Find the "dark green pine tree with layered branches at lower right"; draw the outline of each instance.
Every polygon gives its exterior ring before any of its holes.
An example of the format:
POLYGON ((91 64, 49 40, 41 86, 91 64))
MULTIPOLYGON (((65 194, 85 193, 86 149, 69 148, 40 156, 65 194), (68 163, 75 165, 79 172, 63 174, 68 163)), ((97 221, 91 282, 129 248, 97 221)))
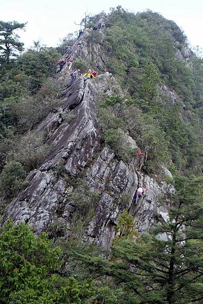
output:
POLYGON ((170 219, 156 225, 152 237, 113 248, 143 283, 140 297, 147 303, 186 304, 203 298, 202 179, 180 177, 176 186, 170 219))

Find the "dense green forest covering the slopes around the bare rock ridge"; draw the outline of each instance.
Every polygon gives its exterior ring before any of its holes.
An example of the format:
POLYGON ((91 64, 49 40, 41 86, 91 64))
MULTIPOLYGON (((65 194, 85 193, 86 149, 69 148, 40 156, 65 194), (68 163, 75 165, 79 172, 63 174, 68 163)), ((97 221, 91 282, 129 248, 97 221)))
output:
MULTIPOLYGON (((86 27, 98 17, 89 17, 86 27)), ((6 206, 52 149, 38 126, 62 104, 67 79, 61 80, 56 66, 66 46, 76 42, 68 34, 56 48, 34 42, 23 52, 15 29, 24 27, 0 21, 1 303, 202 303, 203 59, 188 48, 176 23, 151 11, 133 14, 117 7, 107 16, 104 36, 89 34, 87 43, 108 54, 106 69, 123 92, 97 96, 103 144, 128 164, 137 154, 128 134, 144 151, 143 174, 168 185, 159 198, 169 207, 167 220, 157 219, 140 234, 126 209, 118 215, 110 250, 104 250, 84 238, 99 196, 81 176, 70 196, 76 206, 71 237, 63 238, 63 224, 52 223, 48 233, 36 236, 26 223, 4 221, 6 206), (175 104, 164 90, 173 92, 175 104)), ((94 62, 73 64, 86 72, 94 62)), ((71 112, 65 119, 72 119, 71 112)), ((72 185, 62 166, 54 174, 72 185)))

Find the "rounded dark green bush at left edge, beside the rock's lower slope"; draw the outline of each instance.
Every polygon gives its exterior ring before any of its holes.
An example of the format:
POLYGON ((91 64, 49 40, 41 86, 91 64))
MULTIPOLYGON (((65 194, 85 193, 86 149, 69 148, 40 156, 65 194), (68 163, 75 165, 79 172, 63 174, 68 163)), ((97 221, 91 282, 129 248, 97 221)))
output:
POLYGON ((18 194, 27 185, 25 177, 26 172, 19 162, 8 162, 0 174, 1 195, 9 198, 18 194))

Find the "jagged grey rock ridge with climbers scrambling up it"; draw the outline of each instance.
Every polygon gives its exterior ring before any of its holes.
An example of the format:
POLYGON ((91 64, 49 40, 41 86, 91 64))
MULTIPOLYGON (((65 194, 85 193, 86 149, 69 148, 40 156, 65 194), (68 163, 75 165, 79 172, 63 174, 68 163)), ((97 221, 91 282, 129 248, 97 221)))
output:
MULTIPOLYGON (((105 24, 105 18, 103 15, 98 23, 105 24)), ((86 29, 75 42, 72 51, 64 57, 88 57, 104 73, 94 80, 84 81, 80 77, 70 85, 67 82, 69 71, 62 69, 60 78, 67 83, 62 93, 63 104, 38 127, 46 133, 50 153, 38 170, 30 172, 27 177, 28 187, 6 208, 5 218, 12 218, 15 223, 29 223, 37 234, 50 232, 56 223, 58 236, 68 238, 72 233, 76 210, 72 194, 80 177, 98 197, 83 239, 108 249, 116 234, 118 215, 124 210, 127 209, 133 215, 141 233, 149 231, 154 221, 166 220, 168 207, 161 202, 160 194, 166 188, 168 191, 173 191, 173 188, 140 173, 138 157, 124 163, 105 145, 97 118, 97 106, 105 96, 122 95, 122 91, 106 71, 108 57, 100 51, 100 45, 88 45, 86 39, 91 30, 86 29), (71 119, 67 120, 67 115, 71 119), (63 174, 60 174, 61 171, 63 174), (139 204, 135 205, 133 197, 138 181, 147 191, 139 204)), ((105 27, 102 34, 105 34, 105 27)), ((132 138, 131 144, 136 146, 132 138)), ((170 172, 166 174, 170 175, 170 172)))

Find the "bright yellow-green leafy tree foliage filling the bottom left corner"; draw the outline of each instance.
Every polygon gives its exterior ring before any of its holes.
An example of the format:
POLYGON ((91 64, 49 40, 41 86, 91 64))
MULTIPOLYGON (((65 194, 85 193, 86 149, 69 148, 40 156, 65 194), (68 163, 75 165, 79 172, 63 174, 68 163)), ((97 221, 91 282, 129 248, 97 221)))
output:
POLYGON ((7 222, 0 235, 1 302, 81 304, 91 295, 88 284, 56 274, 59 248, 51 248, 46 234, 35 237, 23 223, 7 222))

